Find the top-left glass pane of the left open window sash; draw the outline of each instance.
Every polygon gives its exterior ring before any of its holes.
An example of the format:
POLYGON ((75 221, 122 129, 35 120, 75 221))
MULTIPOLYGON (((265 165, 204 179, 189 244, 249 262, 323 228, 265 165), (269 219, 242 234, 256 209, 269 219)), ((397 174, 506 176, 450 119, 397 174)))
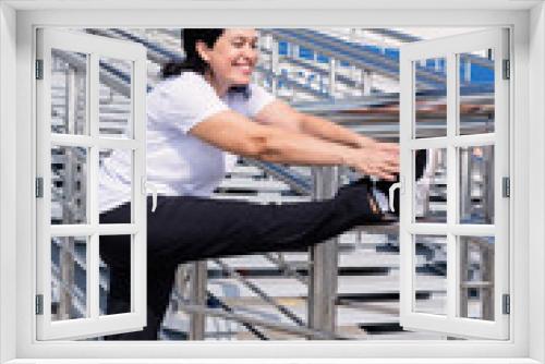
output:
POLYGON ((87 133, 87 54, 51 49, 51 132, 87 133))

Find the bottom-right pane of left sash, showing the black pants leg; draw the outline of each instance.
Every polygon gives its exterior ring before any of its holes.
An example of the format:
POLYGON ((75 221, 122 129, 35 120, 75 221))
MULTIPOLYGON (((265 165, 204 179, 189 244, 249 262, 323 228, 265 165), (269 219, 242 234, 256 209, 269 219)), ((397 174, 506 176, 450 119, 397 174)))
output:
POLYGON ((131 235, 100 236, 100 315, 132 312, 131 248, 131 235))

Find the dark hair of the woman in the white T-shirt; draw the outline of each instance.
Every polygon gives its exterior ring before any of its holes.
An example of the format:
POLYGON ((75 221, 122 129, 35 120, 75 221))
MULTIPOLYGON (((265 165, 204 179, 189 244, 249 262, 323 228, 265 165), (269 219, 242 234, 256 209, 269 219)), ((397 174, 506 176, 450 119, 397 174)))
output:
POLYGON ((196 50, 197 41, 204 41, 209 48, 223 34, 225 29, 187 28, 181 31, 182 48, 185 52, 183 61, 171 61, 162 66, 161 76, 168 78, 178 76, 184 71, 204 74, 208 64, 201 58, 196 50))

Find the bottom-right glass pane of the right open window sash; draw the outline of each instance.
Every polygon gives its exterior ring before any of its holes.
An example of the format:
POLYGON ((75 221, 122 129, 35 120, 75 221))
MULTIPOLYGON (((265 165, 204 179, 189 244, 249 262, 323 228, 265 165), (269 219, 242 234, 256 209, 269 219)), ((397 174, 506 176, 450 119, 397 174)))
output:
POLYGON ((460 316, 494 320, 494 238, 460 238, 460 316))

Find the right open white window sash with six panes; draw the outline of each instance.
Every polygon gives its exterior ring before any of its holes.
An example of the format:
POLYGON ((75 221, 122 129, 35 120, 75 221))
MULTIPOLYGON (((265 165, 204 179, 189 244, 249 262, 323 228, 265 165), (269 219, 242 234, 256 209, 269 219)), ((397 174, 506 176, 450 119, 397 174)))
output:
POLYGON ((410 89, 400 96, 400 154, 402 206, 399 241, 401 246, 401 310, 400 323, 408 329, 439 330, 457 336, 505 340, 509 338, 509 315, 502 313, 502 295, 509 294, 509 199, 501 195, 501 179, 509 177, 509 86, 512 80, 504 80, 504 60, 509 59, 509 32, 492 28, 436 38, 400 47, 400 85, 410 89), (458 54, 483 49, 494 50, 494 102, 495 130, 493 133, 460 135, 458 54), (446 134, 417 138, 415 119, 415 63, 443 58, 446 61, 446 134), (494 206, 492 225, 459 222, 460 201, 458 148, 464 146, 494 146, 494 206), (415 186, 413 153, 419 149, 444 149, 447 158, 447 219, 445 222, 417 222, 413 220, 415 186), (447 274, 445 315, 419 313, 415 307, 415 244, 417 235, 445 236, 447 274), (461 236, 494 236, 494 319, 472 319, 459 316, 460 306, 460 242, 461 236))

